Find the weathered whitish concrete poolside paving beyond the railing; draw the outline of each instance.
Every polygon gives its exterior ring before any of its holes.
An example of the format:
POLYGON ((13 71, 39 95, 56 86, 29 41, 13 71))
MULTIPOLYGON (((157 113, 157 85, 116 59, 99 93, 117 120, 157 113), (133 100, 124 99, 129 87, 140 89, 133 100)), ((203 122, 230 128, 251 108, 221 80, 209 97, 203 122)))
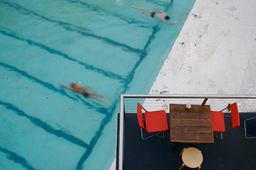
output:
POLYGON ((149 93, 256 94, 255 14, 255 0, 196 0, 149 93))

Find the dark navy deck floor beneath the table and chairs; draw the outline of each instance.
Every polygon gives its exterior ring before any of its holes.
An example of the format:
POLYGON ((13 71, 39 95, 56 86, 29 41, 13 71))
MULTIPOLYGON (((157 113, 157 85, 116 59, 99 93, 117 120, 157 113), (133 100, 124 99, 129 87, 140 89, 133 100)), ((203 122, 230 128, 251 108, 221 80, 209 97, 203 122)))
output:
MULTIPOLYGON (((225 115, 226 128, 229 128, 230 114, 225 115)), ((169 121, 169 114, 167 116, 169 121)), ((240 114, 240 127, 225 132, 222 140, 214 137, 214 144, 194 144, 202 151, 203 170, 256 169, 256 138, 246 139, 244 136, 244 120, 252 117, 256 114, 240 114)), ((126 113, 124 123, 125 170, 178 170, 182 164, 180 151, 192 146, 183 143, 177 146, 170 142, 170 131, 164 133, 164 139, 154 136, 142 140, 136 114, 126 113)), ((188 169, 191 168, 183 168, 188 169)))

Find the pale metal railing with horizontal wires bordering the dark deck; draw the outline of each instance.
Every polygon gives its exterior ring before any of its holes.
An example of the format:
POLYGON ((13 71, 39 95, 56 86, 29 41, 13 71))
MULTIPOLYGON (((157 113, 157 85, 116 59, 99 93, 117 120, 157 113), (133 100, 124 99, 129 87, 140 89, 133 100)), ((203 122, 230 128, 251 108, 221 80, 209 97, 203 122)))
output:
MULTIPOLYGON (((209 104, 211 110, 222 110, 228 104, 237 102, 239 112, 256 112, 256 95, 168 95, 168 94, 121 94, 119 121, 118 170, 123 170, 124 156, 124 114, 136 112, 137 102, 143 103, 147 110, 169 110, 170 103, 209 104), (126 99, 126 101, 125 101, 126 99), (128 99, 128 100, 127 100, 128 99), (136 99, 136 100, 129 100, 136 99), (144 99, 144 100, 141 100, 144 99), (127 106, 125 106, 127 102, 127 106)), ((168 111, 167 111, 168 112, 168 111)))

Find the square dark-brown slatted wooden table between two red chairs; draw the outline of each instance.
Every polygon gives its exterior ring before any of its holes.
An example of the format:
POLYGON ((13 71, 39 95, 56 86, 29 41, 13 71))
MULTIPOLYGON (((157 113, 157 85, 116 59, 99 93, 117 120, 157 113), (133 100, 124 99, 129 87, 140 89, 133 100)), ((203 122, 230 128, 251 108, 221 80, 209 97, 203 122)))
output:
POLYGON ((170 104, 170 141, 214 143, 210 105, 170 104))

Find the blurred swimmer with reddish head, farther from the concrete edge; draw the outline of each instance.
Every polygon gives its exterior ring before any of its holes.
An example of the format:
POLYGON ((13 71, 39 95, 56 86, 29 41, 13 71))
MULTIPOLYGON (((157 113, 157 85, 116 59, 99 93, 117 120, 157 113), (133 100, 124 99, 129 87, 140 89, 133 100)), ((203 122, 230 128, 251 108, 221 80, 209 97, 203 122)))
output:
POLYGON ((96 93, 94 91, 86 90, 86 89, 88 89, 88 87, 86 87, 86 86, 80 86, 80 85, 78 85, 78 84, 76 84, 74 82, 70 83, 71 87, 64 86, 61 83, 58 83, 58 85, 66 88, 68 90, 72 90, 74 92, 80 93, 84 97, 90 97, 90 98, 93 98, 95 100, 98 100, 99 102, 104 102, 103 100, 100 99, 100 98, 104 98, 104 96, 102 96, 102 95, 100 95, 100 94, 98 94, 98 93, 96 93))

